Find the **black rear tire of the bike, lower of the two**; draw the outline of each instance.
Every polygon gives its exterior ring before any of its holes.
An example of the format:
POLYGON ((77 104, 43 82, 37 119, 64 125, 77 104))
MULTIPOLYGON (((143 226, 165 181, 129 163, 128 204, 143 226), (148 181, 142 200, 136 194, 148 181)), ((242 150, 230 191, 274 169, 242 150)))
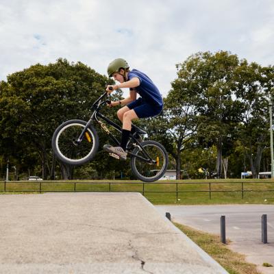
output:
MULTIPOLYGON (((132 158, 130 160, 130 166, 132 169, 132 173, 134 173, 134 175, 138 179, 140 179, 142 182, 155 182, 164 175, 164 173, 166 172, 167 166, 169 164, 169 157, 166 153, 166 149, 159 142, 156 142, 153 140, 146 140, 146 141, 142 142, 140 145, 142 148, 145 148, 147 146, 157 147, 163 155, 164 163, 163 163, 162 168, 156 175, 151 176, 151 177, 146 177, 146 176, 140 174, 140 171, 138 171, 138 168, 136 166, 136 161, 138 161, 137 160, 138 158, 132 156, 132 158)), ((139 152, 140 152, 140 149, 138 147, 135 147, 134 150, 132 151, 132 153, 134 153, 134 154, 138 154, 139 152)), ((153 166, 151 166, 151 168, 153 168, 153 166)))

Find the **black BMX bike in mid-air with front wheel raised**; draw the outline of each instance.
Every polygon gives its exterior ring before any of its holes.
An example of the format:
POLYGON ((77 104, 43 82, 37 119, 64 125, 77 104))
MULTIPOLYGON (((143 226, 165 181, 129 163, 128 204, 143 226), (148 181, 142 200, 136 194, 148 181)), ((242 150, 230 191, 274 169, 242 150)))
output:
MULTIPOLYGON (((88 122, 73 119, 62 123, 55 129, 51 146, 61 162, 79 166, 90 162, 95 157, 99 148, 99 136, 94 126, 95 123, 102 127, 116 145, 120 145, 119 140, 116 139, 105 123, 119 132, 122 132, 122 128, 100 112, 103 106, 110 103, 110 99, 105 99, 107 95, 108 92, 105 92, 93 103, 91 108, 93 112, 88 122)), ((142 129, 135 125, 132 126, 135 127, 137 134, 146 134, 142 129)), ((114 158, 119 158, 116 154, 109 154, 114 158)), ((154 182, 160 179, 168 166, 169 158, 166 149, 154 140, 140 142, 136 134, 129 134, 127 155, 130 158, 132 173, 143 182, 154 182)))

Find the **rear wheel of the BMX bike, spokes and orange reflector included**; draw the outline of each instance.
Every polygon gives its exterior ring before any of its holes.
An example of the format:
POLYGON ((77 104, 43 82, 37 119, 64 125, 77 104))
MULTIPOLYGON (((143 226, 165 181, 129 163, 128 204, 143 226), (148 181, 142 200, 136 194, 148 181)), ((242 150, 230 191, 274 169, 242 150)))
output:
POLYGON ((147 154, 151 161, 146 162, 140 158, 132 155, 130 166, 134 175, 143 182, 154 182, 160 179, 169 164, 169 158, 166 149, 159 143, 153 140, 147 140, 141 143, 140 147, 135 147, 132 151, 133 154, 139 155, 142 158, 148 159, 147 154), (146 153, 144 152, 146 151, 146 153))

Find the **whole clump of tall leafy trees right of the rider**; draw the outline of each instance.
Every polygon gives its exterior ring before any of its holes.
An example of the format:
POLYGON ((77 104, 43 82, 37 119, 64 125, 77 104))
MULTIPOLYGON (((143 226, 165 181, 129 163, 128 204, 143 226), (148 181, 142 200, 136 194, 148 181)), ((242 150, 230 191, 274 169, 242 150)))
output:
POLYGON ((222 162, 225 175, 240 174, 227 166, 229 158, 237 162, 233 156, 237 140, 245 154, 238 159, 249 159, 257 177, 262 151, 269 142, 266 97, 273 86, 273 67, 249 65, 227 51, 197 53, 177 64, 177 79, 171 84, 163 114, 147 127, 173 155, 177 178, 182 169, 179 155, 198 144, 205 149, 216 147, 218 177, 222 162))

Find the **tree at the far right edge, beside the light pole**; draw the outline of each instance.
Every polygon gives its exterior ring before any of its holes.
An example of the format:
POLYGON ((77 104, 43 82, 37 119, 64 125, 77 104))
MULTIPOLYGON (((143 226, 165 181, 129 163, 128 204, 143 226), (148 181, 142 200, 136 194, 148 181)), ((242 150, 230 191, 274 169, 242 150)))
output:
POLYGON ((238 139, 249 159, 253 178, 258 177, 262 153, 269 146, 269 106, 273 96, 274 67, 242 60, 235 71, 237 100, 242 103, 238 139))

